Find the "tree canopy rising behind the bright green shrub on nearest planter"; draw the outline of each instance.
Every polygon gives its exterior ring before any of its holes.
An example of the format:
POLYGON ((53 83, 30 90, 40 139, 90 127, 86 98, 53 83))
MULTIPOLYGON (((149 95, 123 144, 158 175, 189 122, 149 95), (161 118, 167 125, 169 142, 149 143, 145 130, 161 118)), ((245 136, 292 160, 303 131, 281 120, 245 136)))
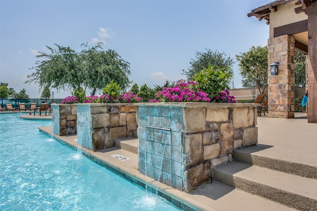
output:
POLYGON ((186 75, 188 80, 192 80, 193 76, 204 68, 208 68, 208 65, 218 66, 219 68, 225 69, 229 72, 230 76, 233 76, 233 58, 228 56, 225 52, 219 53, 217 50, 212 51, 207 49, 207 52, 198 52, 196 51, 196 59, 191 59, 190 67, 187 71, 182 70, 183 74, 186 75))

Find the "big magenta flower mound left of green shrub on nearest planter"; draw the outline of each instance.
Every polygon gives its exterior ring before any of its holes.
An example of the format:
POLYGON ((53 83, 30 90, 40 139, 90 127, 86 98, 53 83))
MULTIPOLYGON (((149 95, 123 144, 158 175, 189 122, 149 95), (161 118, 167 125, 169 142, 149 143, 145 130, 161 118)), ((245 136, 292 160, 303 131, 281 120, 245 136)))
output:
POLYGON ((196 82, 177 81, 174 87, 164 87, 158 91, 157 99, 150 102, 209 102, 208 94, 198 88, 196 82))

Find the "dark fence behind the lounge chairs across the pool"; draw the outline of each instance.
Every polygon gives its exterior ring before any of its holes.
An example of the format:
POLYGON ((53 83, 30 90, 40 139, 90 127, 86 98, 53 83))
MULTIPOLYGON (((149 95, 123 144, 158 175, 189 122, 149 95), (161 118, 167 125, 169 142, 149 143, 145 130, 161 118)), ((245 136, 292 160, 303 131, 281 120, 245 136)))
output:
POLYGON ((7 98, 0 98, 0 105, 1 108, 6 108, 6 104, 12 104, 12 107, 18 108, 20 103, 24 103, 25 108, 29 109, 31 107, 31 103, 36 103, 36 107, 40 107, 42 103, 47 103, 49 106, 51 103, 60 103, 63 99, 7 99, 7 98))

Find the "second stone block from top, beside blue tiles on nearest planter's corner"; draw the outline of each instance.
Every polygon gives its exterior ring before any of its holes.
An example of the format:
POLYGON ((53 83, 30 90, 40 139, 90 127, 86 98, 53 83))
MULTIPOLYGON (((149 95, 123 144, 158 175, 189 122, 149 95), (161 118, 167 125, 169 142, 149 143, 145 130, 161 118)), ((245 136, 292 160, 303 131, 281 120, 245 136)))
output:
POLYGON ((202 158, 202 134, 190 134, 184 137, 184 165, 198 163, 202 158))

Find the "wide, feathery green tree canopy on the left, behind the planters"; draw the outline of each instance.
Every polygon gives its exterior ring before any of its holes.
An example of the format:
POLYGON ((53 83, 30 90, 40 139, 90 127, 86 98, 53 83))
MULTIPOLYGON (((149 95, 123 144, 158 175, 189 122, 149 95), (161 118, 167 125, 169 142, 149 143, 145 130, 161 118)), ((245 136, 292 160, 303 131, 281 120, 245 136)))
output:
POLYGON ((85 87, 95 94, 97 89, 114 80, 126 89, 130 84, 130 63, 114 50, 104 51, 101 44, 99 42, 92 47, 82 44, 80 52, 58 44, 54 44, 55 49, 47 46, 50 53, 39 52, 36 58, 41 60, 30 68, 34 72, 28 75, 25 83, 34 82, 41 88, 49 86, 57 90, 85 87))

